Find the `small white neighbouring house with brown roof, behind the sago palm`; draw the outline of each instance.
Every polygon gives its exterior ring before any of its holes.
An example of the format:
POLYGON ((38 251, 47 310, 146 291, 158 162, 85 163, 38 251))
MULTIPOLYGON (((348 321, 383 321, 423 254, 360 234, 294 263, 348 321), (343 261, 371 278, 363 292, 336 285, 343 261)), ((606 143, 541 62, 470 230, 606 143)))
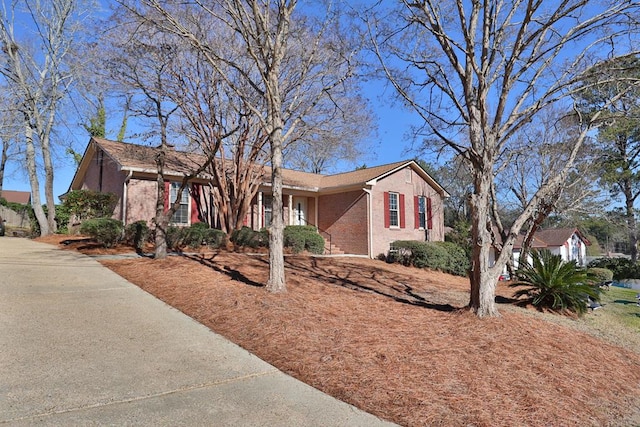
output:
MULTIPOLYGON (((515 268, 518 268, 520 262, 523 241, 523 236, 518 236, 513 246, 513 266, 515 268)), ((581 267, 587 266, 587 246, 591 246, 591 242, 577 228, 538 230, 531 242, 532 250, 548 249, 552 254, 560 255, 563 261, 575 261, 581 267)), ((493 265, 495 252, 492 252, 491 255, 490 263, 493 265)), ((531 261, 531 257, 529 257, 529 261, 531 261)))

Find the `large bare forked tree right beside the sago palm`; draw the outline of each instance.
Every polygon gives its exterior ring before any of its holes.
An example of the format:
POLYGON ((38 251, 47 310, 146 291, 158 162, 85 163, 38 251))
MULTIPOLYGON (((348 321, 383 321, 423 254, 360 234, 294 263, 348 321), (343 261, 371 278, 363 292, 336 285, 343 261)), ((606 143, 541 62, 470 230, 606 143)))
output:
POLYGON ((499 209, 495 176, 515 133, 548 105, 573 114, 581 73, 627 53, 637 30, 637 2, 567 0, 402 1, 366 17, 375 53, 402 99, 437 137, 471 165, 472 271, 469 308, 497 316, 495 286, 516 236, 561 188, 595 123, 581 117, 565 163, 536 189, 490 263, 499 209))

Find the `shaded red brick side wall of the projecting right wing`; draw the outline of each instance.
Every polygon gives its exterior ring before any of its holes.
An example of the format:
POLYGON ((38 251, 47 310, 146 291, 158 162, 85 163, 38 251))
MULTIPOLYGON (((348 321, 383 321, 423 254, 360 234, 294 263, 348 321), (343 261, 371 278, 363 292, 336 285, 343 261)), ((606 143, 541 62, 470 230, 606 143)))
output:
POLYGON ((345 253, 367 255, 367 194, 364 191, 318 198, 318 226, 345 253))

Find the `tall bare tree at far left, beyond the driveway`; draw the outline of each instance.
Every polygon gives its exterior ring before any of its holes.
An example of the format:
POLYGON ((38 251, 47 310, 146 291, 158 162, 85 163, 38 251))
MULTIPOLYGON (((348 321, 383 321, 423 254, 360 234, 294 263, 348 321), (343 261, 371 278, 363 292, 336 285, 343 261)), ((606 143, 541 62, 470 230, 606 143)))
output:
POLYGON ((73 83, 73 74, 65 61, 74 34, 80 29, 79 16, 84 12, 81 6, 76 0, 23 0, 10 5, 4 2, 0 17, 0 74, 21 115, 25 166, 42 235, 56 230, 51 136, 60 102, 73 83), (22 19, 20 22, 16 21, 17 16, 22 19), (33 31, 34 37, 29 39, 26 31, 16 31, 17 25, 33 31), (43 168, 47 214, 40 204, 39 161, 43 168))

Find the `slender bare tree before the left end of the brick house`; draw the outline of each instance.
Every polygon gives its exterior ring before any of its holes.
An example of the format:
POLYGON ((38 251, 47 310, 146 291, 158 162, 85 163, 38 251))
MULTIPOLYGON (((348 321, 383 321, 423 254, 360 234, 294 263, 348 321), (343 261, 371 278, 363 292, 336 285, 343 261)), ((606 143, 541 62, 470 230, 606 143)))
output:
MULTIPOLYGON (((183 153, 182 160, 174 157, 173 166, 177 166, 183 174, 175 200, 165 209, 166 165, 174 151, 169 143, 169 127, 171 118, 176 115, 182 104, 175 102, 176 88, 181 91, 180 67, 184 56, 181 52, 181 39, 158 32, 155 27, 144 22, 127 22, 127 16, 114 15, 112 22, 119 22, 115 32, 107 34, 111 50, 108 56, 110 77, 118 82, 128 94, 133 94, 129 108, 132 113, 144 117, 153 123, 151 130, 143 138, 159 140, 156 147, 156 209, 155 253, 156 259, 167 256, 167 230, 171 218, 180 206, 182 194, 189 191, 189 182, 201 174, 211 163, 215 149, 206 158, 188 156, 183 153)), ((188 48, 189 46, 187 46, 188 48)), ((184 102, 184 99, 180 98, 184 102)), ((199 153, 196 153, 199 154, 199 153)))

